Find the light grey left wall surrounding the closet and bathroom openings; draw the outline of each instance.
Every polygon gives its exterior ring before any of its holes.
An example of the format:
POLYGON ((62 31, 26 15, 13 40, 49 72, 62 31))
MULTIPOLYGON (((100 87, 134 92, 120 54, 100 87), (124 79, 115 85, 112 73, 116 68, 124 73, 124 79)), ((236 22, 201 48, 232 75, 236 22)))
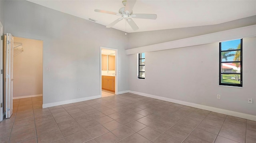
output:
POLYGON ((129 89, 125 32, 23 0, 5 2, 5 32, 43 40, 44 104, 100 95, 100 46, 118 49, 118 91, 129 89))

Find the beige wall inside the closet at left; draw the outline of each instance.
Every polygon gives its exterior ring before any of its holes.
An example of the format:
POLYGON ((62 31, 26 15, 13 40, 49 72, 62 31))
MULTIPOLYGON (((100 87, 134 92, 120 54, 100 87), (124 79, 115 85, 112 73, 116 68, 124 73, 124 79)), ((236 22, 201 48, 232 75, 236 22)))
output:
POLYGON ((43 41, 14 37, 14 42, 22 43, 24 52, 14 56, 13 97, 42 94, 43 41))

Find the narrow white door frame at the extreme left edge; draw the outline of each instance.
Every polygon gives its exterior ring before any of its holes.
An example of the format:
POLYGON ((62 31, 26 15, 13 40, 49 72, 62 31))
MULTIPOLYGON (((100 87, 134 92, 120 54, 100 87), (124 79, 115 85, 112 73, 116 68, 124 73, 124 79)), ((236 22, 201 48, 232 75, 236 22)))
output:
MULTIPOLYGON (((4 36, 3 35, 3 25, 2 25, 2 23, 0 22, 0 36, 1 36, 1 42, 0 42, 0 70, 3 70, 3 40, 2 40, 2 36, 4 36)), ((3 39, 4 39, 4 37, 3 37, 3 39)), ((4 101, 3 101, 3 96, 4 96, 4 94, 3 94, 3 72, 4 71, 2 71, 1 73, 0 73, 0 103, 2 104, 2 107, 1 107, 1 109, 0 109, 0 121, 2 121, 3 119, 4 119, 4 113, 3 113, 3 111, 4 111, 4 101)))

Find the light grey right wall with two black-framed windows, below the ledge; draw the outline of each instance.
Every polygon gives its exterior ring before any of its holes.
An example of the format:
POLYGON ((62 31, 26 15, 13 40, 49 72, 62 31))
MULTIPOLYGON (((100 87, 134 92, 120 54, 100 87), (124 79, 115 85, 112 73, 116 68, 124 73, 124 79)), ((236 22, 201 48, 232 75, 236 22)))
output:
POLYGON ((256 115, 255 47, 255 37, 244 38, 242 88, 218 85, 217 42, 147 52, 144 80, 137 79, 137 55, 130 55, 130 90, 256 115), (253 104, 247 103, 249 97, 253 104))

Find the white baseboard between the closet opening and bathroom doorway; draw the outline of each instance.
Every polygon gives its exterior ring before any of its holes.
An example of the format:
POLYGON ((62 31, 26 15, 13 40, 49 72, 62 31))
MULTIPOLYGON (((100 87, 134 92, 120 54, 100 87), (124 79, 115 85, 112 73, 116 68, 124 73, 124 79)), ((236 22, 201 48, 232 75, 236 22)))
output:
POLYGON ((76 102, 86 101, 86 100, 90 100, 90 99, 96 99, 96 98, 100 98, 100 97, 101 97, 101 95, 95 95, 95 96, 89 96, 89 97, 83 97, 83 98, 77 98, 77 99, 71 99, 71 100, 65 100, 65 101, 59 101, 59 102, 46 103, 46 104, 43 104, 43 108, 64 105, 64 104, 69 104, 69 103, 76 103, 76 102))

